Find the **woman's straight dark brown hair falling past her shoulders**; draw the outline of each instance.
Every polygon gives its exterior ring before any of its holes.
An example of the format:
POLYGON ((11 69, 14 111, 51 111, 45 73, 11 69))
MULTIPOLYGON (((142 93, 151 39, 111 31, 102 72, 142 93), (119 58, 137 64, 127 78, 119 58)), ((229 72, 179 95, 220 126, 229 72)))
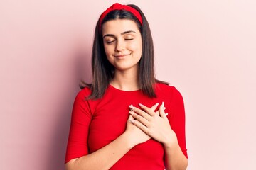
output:
MULTIPOLYGON (((139 60, 139 86, 145 95, 153 98, 156 97, 154 84, 156 84, 156 82, 167 83, 157 80, 154 75, 154 45, 149 23, 146 20, 144 13, 142 13, 140 8, 136 5, 130 4, 128 6, 139 11, 142 16, 143 24, 141 24, 129 11, 114 10, 107 13, 107 16, 103 18, 101 25, 114 19, 129 19, 137 23, 142 34, 142 57, 139 60)), ((90 87, 92 90, 92 93, 88 97, 90 99, 102 98, 113 76, 114 67, 107 60, 103 46, 102 30, 100 30, 100 23, 98 21, 95 28, 95 37, 92 47, 92 83, 87 84, 84 81, 81 81, 80 88, 83 89, 85 86, 90 87)))

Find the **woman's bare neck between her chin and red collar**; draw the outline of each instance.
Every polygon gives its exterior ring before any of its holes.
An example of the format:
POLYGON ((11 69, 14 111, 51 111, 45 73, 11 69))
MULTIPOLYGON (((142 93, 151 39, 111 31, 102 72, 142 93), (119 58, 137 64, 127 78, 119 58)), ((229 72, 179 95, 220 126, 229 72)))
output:
POLYGON ((123 91, 135 91, 139 87, 139 73, 117 71, 114 73, 114 78, 110 82, 112 86, 123 91))

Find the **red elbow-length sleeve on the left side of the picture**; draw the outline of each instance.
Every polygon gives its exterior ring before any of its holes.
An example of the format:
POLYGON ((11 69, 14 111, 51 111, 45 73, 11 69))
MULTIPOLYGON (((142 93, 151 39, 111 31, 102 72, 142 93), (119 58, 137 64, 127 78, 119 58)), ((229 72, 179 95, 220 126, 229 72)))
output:
POLYGON ((88 154, 87 137, 91 120, 90 107, 82 90, 73 104, 65 163, 88 154))

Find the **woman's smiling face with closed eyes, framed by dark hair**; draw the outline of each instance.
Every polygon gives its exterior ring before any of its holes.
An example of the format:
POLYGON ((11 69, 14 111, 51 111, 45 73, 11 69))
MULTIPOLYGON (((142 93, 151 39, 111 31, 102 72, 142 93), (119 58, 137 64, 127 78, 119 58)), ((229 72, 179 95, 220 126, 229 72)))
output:
POLYGON ((107 60, 116 70, 138 69, 142 57, 142 35, 132 20, 116 19, 102 25, 107 60))

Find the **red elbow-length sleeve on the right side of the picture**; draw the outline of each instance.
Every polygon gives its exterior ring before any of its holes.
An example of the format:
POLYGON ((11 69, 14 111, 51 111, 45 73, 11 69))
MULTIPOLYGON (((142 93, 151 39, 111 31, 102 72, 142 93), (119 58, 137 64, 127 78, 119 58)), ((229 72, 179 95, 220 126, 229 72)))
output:
POLYGON ((172 91, 171 114, 168 118, 171 129, 176 133, 178 145, 181 147, 183 154, 188 158, 186 149, 184 102, 181 93, 176 88, 172 91))

